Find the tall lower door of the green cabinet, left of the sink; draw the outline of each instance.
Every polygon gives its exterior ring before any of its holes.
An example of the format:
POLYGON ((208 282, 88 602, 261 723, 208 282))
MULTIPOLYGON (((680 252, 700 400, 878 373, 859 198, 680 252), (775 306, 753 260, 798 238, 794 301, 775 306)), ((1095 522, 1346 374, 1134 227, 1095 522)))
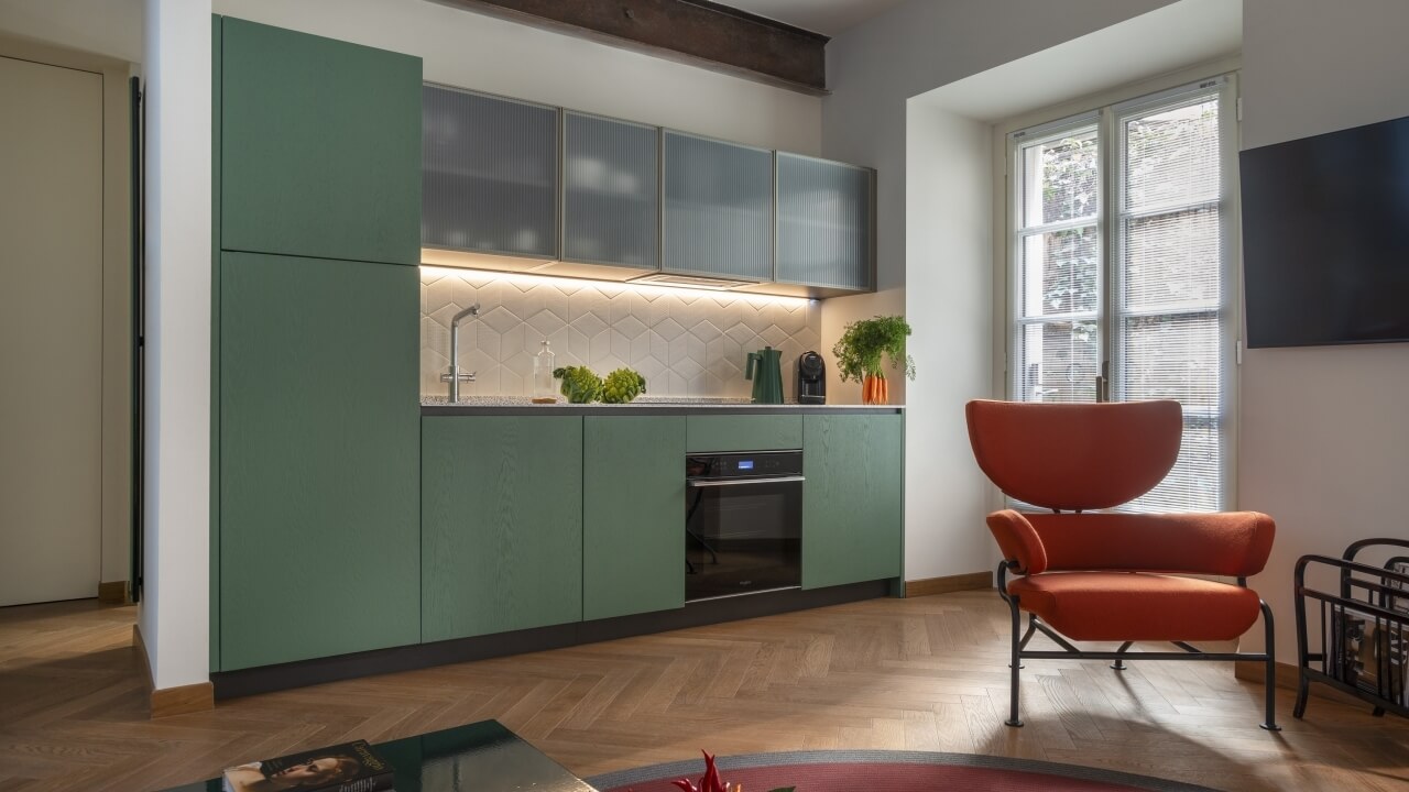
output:
POLYGON ((220 669, 420 640, 420 280, 220 261, 220 669))

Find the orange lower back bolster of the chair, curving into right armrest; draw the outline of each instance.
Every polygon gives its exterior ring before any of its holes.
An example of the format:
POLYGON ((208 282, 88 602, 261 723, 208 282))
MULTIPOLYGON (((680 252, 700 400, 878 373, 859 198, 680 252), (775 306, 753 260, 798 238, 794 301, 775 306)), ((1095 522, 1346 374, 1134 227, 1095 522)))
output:
POLYGON ((1262 571, 1277 524, 1258 512, 1026 514, 1048 569, 1130 569, 1247 578, 1262 571))

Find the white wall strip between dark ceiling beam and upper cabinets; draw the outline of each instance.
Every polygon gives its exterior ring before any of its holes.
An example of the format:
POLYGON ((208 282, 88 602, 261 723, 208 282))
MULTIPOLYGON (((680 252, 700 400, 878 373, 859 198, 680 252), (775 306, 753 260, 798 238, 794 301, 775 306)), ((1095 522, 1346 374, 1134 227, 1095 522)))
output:
POLYGON ((418 55, 427 80, 816 155, 821 100, 426 0, 216 0, 217 14, 418 55))

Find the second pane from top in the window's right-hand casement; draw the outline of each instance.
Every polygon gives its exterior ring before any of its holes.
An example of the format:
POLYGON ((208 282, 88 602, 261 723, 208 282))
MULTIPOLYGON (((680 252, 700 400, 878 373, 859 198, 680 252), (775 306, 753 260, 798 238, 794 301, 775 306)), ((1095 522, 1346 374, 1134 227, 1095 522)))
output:
POLYGON ((1222 256, 1216 206, 1126 220, 1124 307, 1217 306, 1222 256))

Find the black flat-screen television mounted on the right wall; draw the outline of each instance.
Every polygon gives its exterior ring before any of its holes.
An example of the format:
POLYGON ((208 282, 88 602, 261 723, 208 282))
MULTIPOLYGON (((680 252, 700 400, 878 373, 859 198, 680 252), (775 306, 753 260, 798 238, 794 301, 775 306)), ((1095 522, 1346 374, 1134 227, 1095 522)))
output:
POLYGON ((1239 159, 1247 345, 1409 341, 1409 117, 1239 159))

